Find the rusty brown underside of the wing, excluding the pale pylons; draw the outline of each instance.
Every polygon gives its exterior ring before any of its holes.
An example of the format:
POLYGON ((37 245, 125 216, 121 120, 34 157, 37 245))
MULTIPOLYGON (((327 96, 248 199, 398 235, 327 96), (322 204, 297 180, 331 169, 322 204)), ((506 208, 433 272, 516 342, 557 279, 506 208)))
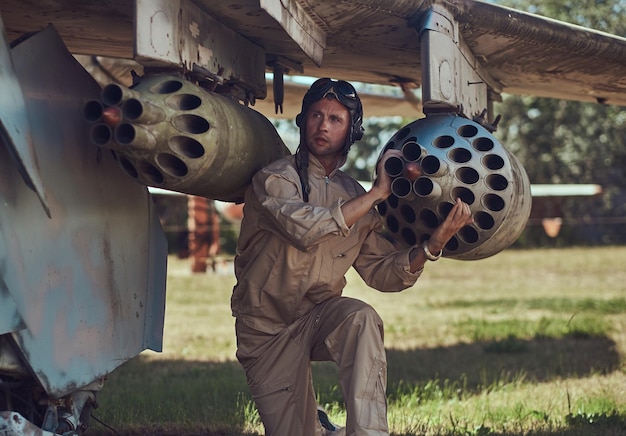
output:
MULTIPOLYGON (((273 0, 297 3, 325 35, 318 67, 259 0, 195 0, 220 23, 305 75, 388 84, 421 83, 420 47, 410 27, 436 3, 448 8, 474 56, 503 92, 626 104, 626 39, 470 0, 273 0)), ((263 2, 266 3, 266 2, 263 2)), ((1 0, 10 38, 56 23, 75 53, 132 57, 132 2, 1 0)), ((289 9, 282 9, 284 14, 289 9)), ((419 20, 418 20, 419 21, 419 20)), ((245 55, 245 54, 242 54, 245 55)), ((293 71, 293 68, 292 68, 293 71)))

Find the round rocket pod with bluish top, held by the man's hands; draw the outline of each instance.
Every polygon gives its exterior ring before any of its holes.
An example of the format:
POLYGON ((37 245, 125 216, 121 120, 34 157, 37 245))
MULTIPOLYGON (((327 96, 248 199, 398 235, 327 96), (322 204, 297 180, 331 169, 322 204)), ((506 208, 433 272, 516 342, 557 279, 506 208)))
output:
POLYGON ((528 221, 532 197, 526 171, 482 125, 454 114, 429 115, 400 129, 384 151, 392 194, 378 212, 394 239, 411 246, 431 233, 460 198, 474 223, 446 244, 459 260, 492 256, 511 245, 528 221))

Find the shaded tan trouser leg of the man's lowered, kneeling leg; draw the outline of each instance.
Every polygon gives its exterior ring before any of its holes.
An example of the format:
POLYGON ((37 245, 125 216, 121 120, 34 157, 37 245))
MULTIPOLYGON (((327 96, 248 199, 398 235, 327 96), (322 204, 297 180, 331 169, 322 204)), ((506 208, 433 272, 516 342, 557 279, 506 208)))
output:
POLYGON ((237 358, 246 371, 267 436, 317 436, 322 428, 310 355, 285 329, 269 335, 236 323, 237 358))

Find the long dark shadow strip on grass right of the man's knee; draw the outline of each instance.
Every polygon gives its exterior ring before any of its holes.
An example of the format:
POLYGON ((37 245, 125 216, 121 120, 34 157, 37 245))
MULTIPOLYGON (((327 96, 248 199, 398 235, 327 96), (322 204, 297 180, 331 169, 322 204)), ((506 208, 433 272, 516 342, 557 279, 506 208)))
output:
MULTIPOLYGON (((615 342, 604 336, 511 338, 452 347, 387 350, 387 360, 389 374, 401 376, 404 382, 423 384, 433 378, 465 378, 471 392, 520 377, 531 382, 549 382, 557 377, 609 373, 620 366, 615 342)), ((391 390, 399 381, 390 377, 391 390)))

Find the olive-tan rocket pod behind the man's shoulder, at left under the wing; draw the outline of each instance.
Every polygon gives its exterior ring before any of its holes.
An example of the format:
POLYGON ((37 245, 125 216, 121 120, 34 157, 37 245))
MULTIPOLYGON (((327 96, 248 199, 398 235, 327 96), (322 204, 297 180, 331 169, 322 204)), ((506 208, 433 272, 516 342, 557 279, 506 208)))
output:
POLYGON ((177 75, 107 85, 83 115, 139 183, 216 200, 243 201, 254 173, 290 153, 263 115, 177 75))

